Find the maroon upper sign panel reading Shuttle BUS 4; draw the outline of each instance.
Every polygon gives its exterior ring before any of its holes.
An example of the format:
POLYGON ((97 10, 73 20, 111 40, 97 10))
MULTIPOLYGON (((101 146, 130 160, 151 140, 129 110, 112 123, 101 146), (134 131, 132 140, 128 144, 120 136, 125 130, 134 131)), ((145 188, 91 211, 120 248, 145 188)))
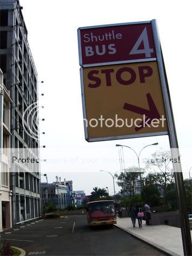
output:
POLYGON ((82 63, 155 58, 150 23, 80 29, 82 63))

